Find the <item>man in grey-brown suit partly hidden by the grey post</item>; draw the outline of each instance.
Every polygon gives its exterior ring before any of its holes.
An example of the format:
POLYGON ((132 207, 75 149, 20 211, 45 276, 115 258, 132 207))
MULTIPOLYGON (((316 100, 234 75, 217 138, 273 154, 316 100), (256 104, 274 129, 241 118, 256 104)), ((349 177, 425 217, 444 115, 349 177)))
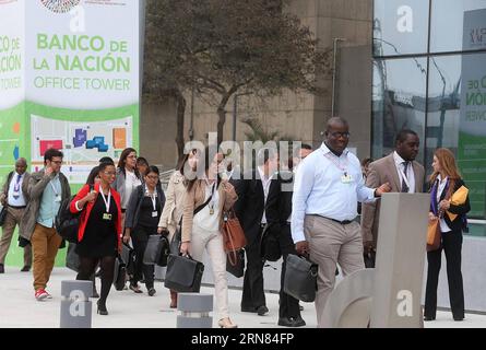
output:
MULTIPOLYGON (((403 129, 395 139, 395 150, 369 165, 366 186, 379 187, 389 183, 392 192, 422 192, 424 188, 424 166, 415 161, 418 154, 419 139, 415 131, 403 129)), ((375 267, 375 252, 378 242, 378 222, 380 201, 363 203, 361 234, 365 256, 375 267)))

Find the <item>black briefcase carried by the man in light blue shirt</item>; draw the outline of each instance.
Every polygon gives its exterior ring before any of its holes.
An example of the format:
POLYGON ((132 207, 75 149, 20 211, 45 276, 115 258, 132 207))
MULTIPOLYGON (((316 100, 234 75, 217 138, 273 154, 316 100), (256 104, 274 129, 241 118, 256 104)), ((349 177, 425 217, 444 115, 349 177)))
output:
POLYGON ((318 265, 305 257, 287 255, 284 292, 303 302, 316 300, 318 265))

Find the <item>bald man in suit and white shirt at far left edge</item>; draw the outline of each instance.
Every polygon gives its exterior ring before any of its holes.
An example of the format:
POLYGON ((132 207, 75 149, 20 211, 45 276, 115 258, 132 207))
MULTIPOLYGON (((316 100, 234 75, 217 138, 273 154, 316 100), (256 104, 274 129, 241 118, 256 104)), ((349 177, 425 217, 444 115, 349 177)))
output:
MULTIPOLYGON (((12 242, 15 226, 21 224, 21 220, 28 202, 28 178, 27 161, 20 158, 15 162, 15 171, 7 176, 2 190, 0 192, 0 202, 7 207, 5 222, 2 228, 2 237, 0 238, 0 273, 4 273, 4 262, 10 243, 12 242)), ((24 267, 21 271, 27 272, 32 266, 32 247, 28 244, 24 247, 24 267)))

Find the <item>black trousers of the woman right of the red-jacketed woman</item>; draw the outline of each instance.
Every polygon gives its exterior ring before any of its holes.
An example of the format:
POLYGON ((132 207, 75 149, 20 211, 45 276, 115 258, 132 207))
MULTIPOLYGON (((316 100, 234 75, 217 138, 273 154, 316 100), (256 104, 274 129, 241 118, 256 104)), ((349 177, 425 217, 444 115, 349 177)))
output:
POLYGON ((146 228, 138 225, 133 230, 132 243, 133 249, 135 250, 135 269, 130 283, 137 284, 143 278, 145 279, 145 287, 147 289, 154 287, 154 266, 143 264, 143 255, 145 254, 146 243, 149 242, 149 236, 155 234, 157 228, 146 228))

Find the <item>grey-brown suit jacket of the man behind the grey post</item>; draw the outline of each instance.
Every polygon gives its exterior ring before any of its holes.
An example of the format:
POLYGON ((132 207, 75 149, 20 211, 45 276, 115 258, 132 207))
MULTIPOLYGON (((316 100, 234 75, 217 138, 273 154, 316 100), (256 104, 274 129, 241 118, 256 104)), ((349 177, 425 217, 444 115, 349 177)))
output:
MULTIPOLYGON (((412 167, 415 176, 415 192, 424 191, 424 176, 425 170, 419 163, 413 161, 412 167)), ((393 152, 369 165, 368 177, 366 178, 366 186, 376 188, 386 183, 391 186, 392 192, 400 192, 402 184, 396 171, 393 152)), ((378 228, 380 219, 381 200, 375 202, 363 203, 361 209, 361 234, 364 242, 372 242, 372 246, 377 247, 378 228)))

